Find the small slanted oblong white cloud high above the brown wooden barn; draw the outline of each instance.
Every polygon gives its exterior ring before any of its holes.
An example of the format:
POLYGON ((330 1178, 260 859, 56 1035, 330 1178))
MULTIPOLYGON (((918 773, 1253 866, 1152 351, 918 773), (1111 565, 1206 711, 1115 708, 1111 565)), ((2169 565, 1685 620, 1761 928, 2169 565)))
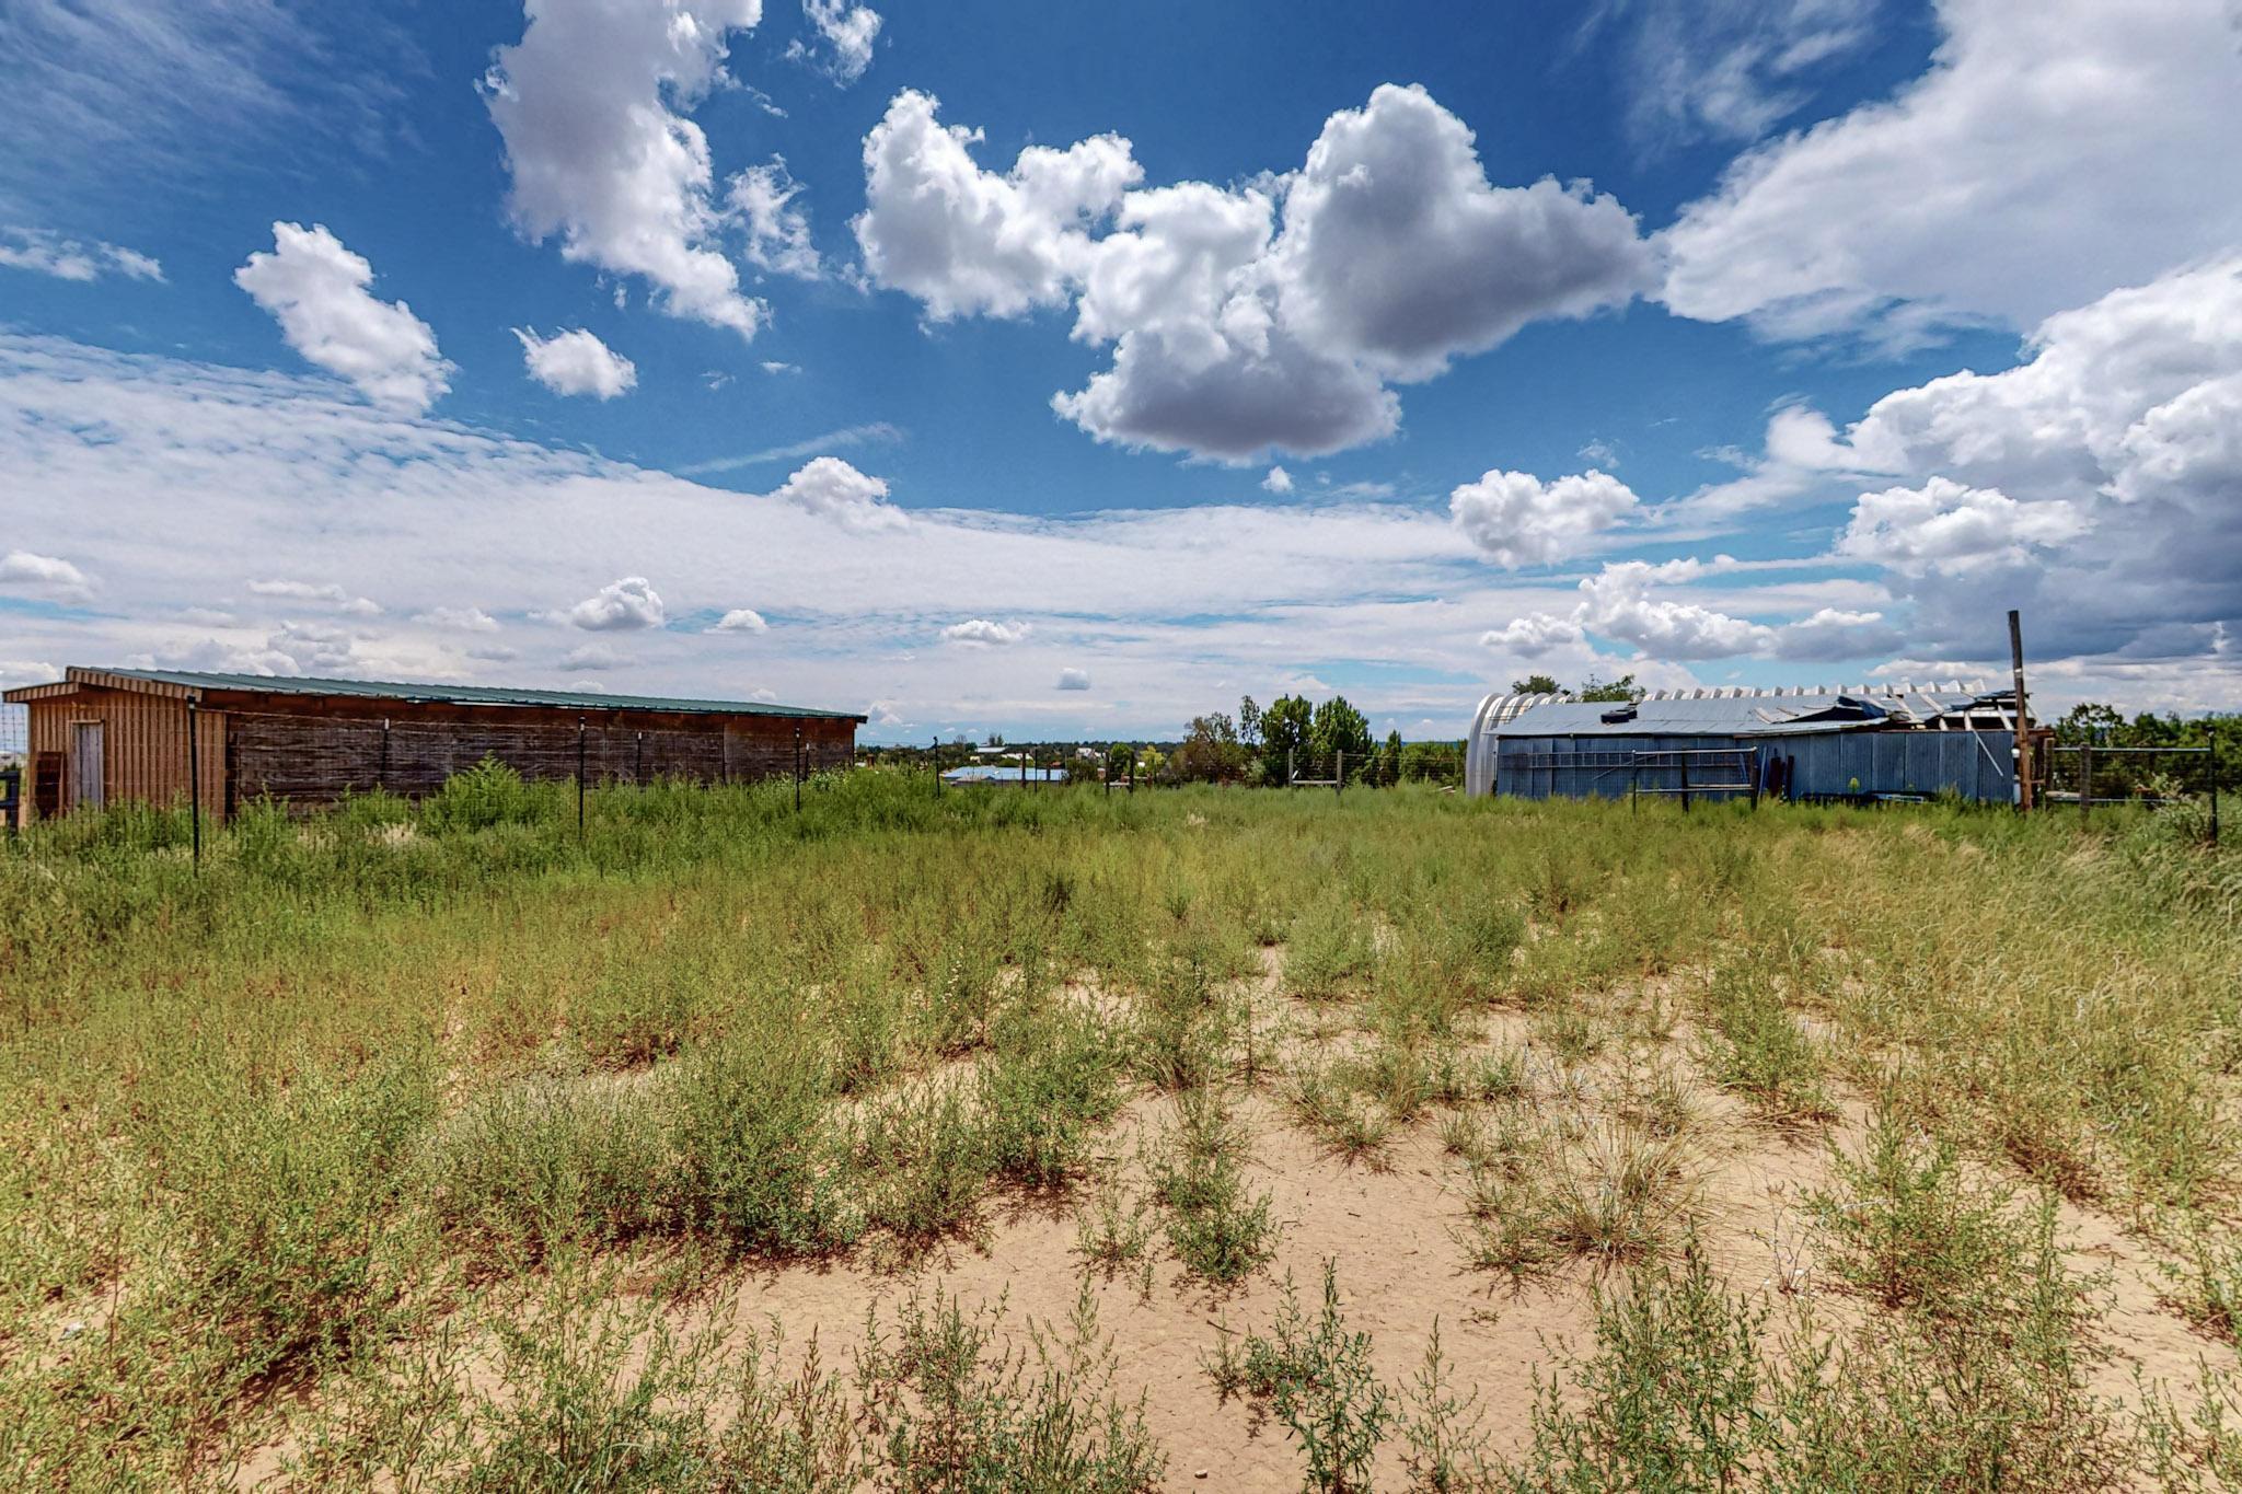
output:
POLYGON ((453 365, 413 307, 374 300, 365 289, 372 280, 374 267, 325 224, 274 224, 274 251, 251 253, 233 271, 233 284, 280 323, 289 347, 377 405, 421 414, 451 390, 453 365))

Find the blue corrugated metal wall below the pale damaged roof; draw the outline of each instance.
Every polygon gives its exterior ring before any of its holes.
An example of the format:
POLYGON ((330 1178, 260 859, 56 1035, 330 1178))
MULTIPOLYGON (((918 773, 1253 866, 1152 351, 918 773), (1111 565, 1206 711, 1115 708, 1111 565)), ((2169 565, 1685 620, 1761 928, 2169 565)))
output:
MULTIPOLYGON (((1637 768, 1634 753, 1751 753, 1760 782, 1776 757, 1791 759, 1791 793, 1957 793, 2009 804, 2016 797, 2013 732, 1809 732, 1794 737, 1504 737, 1495 793, 1525 800, 1625 797, 1679 788, 1679 766, 1637 768), (1554 759, 1554 762, 1551 762, 1554 759), (1569 762, 1567 762, 1569 759, 1569 762)), ((1738 782, 1735 759, 1688 759, 1690 784, 1738 782)), ((1708 793, 1708 797, 1717 797, 1708 793)))

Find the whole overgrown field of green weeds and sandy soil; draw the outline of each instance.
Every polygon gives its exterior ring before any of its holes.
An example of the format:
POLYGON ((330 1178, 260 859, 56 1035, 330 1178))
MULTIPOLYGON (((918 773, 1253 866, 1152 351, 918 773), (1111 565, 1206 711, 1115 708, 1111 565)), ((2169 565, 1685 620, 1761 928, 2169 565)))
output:
POLYGON ((2186 811, 608 788, 0 851, 11 1487, 2242 1478, 2186 811))

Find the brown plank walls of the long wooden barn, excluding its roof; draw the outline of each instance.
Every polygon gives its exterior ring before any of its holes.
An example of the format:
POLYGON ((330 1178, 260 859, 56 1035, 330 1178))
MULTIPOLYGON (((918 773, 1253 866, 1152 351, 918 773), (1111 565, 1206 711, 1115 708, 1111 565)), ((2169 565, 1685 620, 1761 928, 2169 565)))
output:
MULTIPOLYGON (((85 802, 74 782, 81 723, 101 723, 101 800, 182 804, 188 788, 188 692, 96 683, 11 692, 29 710, 34 788, 58 775, 56 793, 27 793, 31 813, 70 813, 85 802)), ((554 706, 462 706, 365 697, 204 690, 200 710, 202 811, 271 795, 291 806, 332 804, 343 793, 388 788, 421 797, 484 757, 522 777, 643 784, 661 777, 704 784, 847 768, 854 717, 785 717, 688 710, 581 710, 554 706)))

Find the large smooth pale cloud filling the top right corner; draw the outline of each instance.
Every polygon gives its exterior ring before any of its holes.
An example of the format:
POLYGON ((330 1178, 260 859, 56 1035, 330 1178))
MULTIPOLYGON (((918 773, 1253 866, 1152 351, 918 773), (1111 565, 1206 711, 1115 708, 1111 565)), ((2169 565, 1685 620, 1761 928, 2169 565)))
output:
POLYGON ((2233 4, 1935 11, 1921 78, 1744 155, 1682 213, 1661 235, 1668 307, 1776 336, 2031 327, 2242 242, 2233 4))

